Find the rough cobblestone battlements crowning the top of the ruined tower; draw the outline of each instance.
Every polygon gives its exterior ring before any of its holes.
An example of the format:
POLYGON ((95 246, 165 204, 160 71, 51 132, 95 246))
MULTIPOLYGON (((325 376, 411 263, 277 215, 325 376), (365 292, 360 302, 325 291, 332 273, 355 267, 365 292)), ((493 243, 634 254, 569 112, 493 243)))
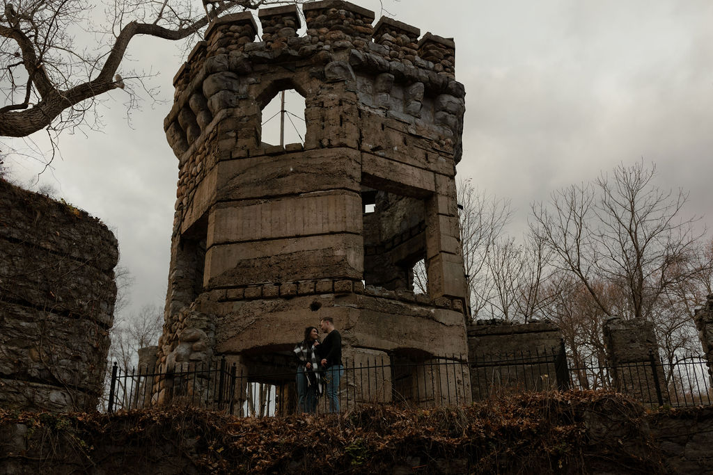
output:
MULTIPOLYGON (((180 160, 177 209, 188 205, 185 192, 193 188, 201 171, 215 165, 218 157, 235 152, 233 135, 240 142, 239 150, 250 153, 261 147, 260 130, 254 125, 245 130, 215 125, 232 115, 231 109, 243 107, 238 102, 256 89, 251 85, 264 82, 266 67, 282 65, 295 73, 302 69, 327 83, 347 81, 348 89, 382 114, 424 130, 434 129, 429 127, 434 122, 440 126, 434 132, 443 137, 443 152, 460 160, 465 92, 453 78, 452 40, 431 33, 419 40, 419 28, 386 17, 374 27, 373 12, 341 0, 304 4, 303 11, 307 33, 297 36, 301 26, 297 6, 260 10, 259 42, 250 12, 217 19, 180 68, 174 78, 175 104, 164 124, 180 160), (430 114, 424 111, 424 97, 431 100, 430 114), (205 162, 209 156, 212 162, 205 162)), ((351 135, 349 130, 342 132, 351 135)), ((318 139, 309 131, 308 136, 313 140, 306 141, 307 147, 342 143, 318 139)))

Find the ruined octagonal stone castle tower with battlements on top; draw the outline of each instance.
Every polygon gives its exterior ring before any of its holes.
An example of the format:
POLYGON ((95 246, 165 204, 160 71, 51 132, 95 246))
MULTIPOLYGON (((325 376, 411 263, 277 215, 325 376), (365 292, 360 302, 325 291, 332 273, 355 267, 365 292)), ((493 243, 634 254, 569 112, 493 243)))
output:
MULTIPOLYGON (((256 377, 294 370, 294 344, 324 316, 356 362, 467 353, 455 44, 392 19, 372 26, 374 12, 346 1, 302 9, 301 37, 294 5, 260 10, 260 42, 250 12, 213 21, 175 76, 159 365, 221 355, 256 377), (281 90, 304 97, 304 143, 261 139, 281 90), (421 260, 427 295, 413 288, 421 260)), ((467 380, 453 384, 469 397, 467 380)))

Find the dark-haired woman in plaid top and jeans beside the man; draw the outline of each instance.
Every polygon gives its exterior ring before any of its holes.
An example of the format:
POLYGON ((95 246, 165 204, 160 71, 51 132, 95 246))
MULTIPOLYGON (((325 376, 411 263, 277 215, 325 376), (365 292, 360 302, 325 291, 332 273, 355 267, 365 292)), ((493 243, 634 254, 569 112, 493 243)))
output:
POLYGON ((304 339, 294 347, 297 355, 297 410, 315 412, 317 397, 322 394, 322 377, 319 361, 314 350, 319 345, 319 331, 316 327, 304 329, 304 339))

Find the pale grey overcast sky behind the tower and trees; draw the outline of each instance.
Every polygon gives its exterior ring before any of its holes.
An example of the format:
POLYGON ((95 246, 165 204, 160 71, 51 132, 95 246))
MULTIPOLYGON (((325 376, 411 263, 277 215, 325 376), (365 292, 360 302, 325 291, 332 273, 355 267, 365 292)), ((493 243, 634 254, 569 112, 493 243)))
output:
MULTIPOLYGON (((378 0, 355 3, 376 11, 378 0)), ((655 162, 658 182, 690 191, 687 214, 713 213, 713 2, 710 0, 383 0, 421 33, 453 37, 466 85, 458 177, 511 199, 511 233, 530 203, 619 163, 655 162)), ((158 73, 164 103, 125 118, 125 93, 100 109, 105 127, 61 137, 40 184, 113 229, 135 282, 128 311, 163 306, 178 161, 163 132, 175 45, 136 38, 129 66, 158 73)), ((277 121, 275 121, 277 122, 277 121)), ((14 143, 16 147, 21 144, 14 143)), ((28 184, 42 166, 9 157, 28 184)))

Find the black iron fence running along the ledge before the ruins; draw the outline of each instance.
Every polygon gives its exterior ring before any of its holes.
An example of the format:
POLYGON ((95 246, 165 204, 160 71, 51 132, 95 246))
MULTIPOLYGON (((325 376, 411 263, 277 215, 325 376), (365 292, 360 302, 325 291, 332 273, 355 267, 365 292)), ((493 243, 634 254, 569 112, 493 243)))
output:
MULTIPOLYGON (((502 392, 570 388, 615 390, 653 406, 710 405, 713 399, 706 360, 695 355, 670 364, 650 355, 648 360, 615 367, 595 361, 570 365, 560 345, 543 352, 471 360, 459 355, 420 361, 392 356, 344 363, 340 412, 359 404, 436 407, 467 404, 502 392)), ((297 405, 296 377, 294 370, 249 372, 225 359, 212 366, 191 363, 156 372, 122 372, 115 364, 108 411, 178 402, 235 415, 290 414, 303 409, 297 405)), ((322 395, 316 412, 329 411, 329 398, 322 395)))

